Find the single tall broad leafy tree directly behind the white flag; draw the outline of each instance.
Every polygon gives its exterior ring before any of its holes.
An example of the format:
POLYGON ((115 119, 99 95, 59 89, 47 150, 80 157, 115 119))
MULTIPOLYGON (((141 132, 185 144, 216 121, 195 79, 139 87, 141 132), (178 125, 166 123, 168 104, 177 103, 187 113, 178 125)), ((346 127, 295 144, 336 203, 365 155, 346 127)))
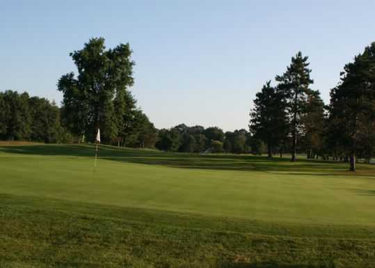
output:
POLYGON ((85 134, 91 141, 99 127, 103 140, 111 141, 122 130, 126 90, 134 84, 129 44, 106 50, 104 38, 92 38, 70 56, 77 78, 71 72, 58 81, 65 123, 74 134, 85 134))

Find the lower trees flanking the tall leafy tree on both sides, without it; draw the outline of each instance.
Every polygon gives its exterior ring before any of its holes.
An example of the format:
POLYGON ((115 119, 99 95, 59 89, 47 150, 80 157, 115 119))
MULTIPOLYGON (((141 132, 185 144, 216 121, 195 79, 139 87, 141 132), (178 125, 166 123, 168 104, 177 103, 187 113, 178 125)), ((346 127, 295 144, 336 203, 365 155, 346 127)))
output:
MULTIPOLYGON (((134 148, 154 148, 157 140, 157 129, 136 101, 129 109, 126 128, 123 135, 126 139, 114 139, 109 143, 134 148)), ((65 111, 55 102, 42 97, 30 97, 28 93, 6 90, 0 92, 0 140, 3 141, 36 141, 41 143, 81 143, 88 142, 85 136, 72 134, 66 124, 65 111)))

